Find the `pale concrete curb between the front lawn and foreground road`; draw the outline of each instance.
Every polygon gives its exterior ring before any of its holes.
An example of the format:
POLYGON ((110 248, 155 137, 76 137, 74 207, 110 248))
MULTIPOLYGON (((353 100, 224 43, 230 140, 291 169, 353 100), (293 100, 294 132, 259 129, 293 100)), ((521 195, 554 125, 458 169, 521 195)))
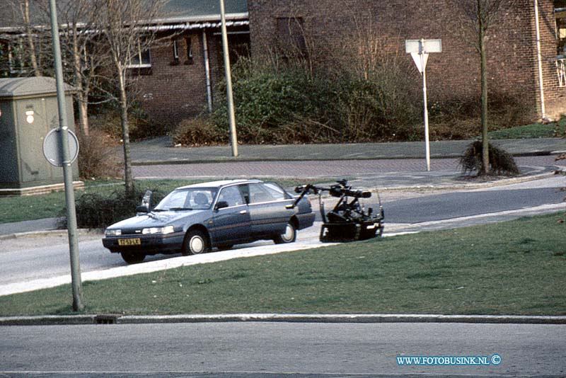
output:
POLYGON ((156 323, 488 323, 566 324, 566 316, 437 314, 216 314, 216 315, 65 315, 0 317, 0 326, 61 326, 156 323))

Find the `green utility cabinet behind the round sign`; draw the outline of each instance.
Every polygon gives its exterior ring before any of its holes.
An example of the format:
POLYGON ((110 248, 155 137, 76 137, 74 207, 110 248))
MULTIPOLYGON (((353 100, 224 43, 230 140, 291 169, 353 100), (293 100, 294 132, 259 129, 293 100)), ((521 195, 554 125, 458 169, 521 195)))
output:
MULTIPOLYGON (((67 125, 74 130, 72 91, 66 86, 67 125)), ((55 79, 0 79, 0 112, 0 195, 18 194, 18 190, 31 194, 33 187, 61 185, 63 168, 52 166, 43 155, 43 139, 59 127, 55 79)), ((75 162, 74 179, 78 174, 75 162)))

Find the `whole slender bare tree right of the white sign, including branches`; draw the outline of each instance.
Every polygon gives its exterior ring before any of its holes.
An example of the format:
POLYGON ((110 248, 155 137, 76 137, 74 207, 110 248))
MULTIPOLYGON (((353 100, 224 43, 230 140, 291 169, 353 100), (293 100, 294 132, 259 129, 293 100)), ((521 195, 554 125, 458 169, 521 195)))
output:
POLYGON ((487 135, 487 40, 490 29, 497 24, 504 9, 512 8, 514 0, 451 0, 458 6, 461 23, 476 35, 475 49, 480 55, 482 160, 481 172, 490 171, 489 137, 487 135))

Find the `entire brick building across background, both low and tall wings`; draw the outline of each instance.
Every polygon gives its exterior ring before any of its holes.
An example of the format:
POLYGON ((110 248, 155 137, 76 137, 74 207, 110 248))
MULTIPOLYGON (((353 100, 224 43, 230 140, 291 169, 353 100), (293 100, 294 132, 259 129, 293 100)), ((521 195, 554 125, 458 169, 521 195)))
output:
MULTIPOLYGON (((357 59, 359 50, 352 40, 365 38, 371 28, 386 41, 382 51, 398 56, 408 67, 412 60, 404 52, 405 40, 442 40, 443 51, 430 55, 427 65, 429 103, 479 96, 477 37, 462 27, 466 18, 458 0, 225 1, 232 62, 247 54, 250 46, 251 54, 260 57, 282 42, 309 50, 327 64, 333 64, 337 51, 340 59, 357 59), (334 54, 326 56, 330 51, 334 54)), ((538 7, 545 115, 555 117, 566 112, 566 0, 538 0, 538 7)), ((0 40, 13 41, 22 38, 21 20, 8 11, 0 8, 0 40)), ((45 19, 34 13, 32 21, 45 25, 45 19)), ((165 130, 214 101, 212 89, 223 75, 219 4, 170 0, 157 21, 159 36, 172 37, 140 52, 138 61, 132 62, 132 68, 138 69, 132 73, 139 76, 142 106, 165 130)), ((6 46, 0 55, 7 62, 6 46)), ((517 101, 529 118, 541 118, 533 0, 516 0, 513 7, 503 8, 490 30, 487 49, 490 96, 517 101)), ((13 68, 8 70, 10 76, 25 75, 13 68)), ((418 73, 414 68, 411 72, 418 88, 418 73)))

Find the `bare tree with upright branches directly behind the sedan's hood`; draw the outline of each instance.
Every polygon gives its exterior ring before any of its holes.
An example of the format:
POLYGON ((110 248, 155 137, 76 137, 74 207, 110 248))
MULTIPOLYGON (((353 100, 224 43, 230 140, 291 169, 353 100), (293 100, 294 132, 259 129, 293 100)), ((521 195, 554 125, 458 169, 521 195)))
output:
POLYGON ((100 42, 110 52, 110 71, 105 78, 115 93, 107 91, 109 98, 120 108, 122 142, 124 146, 124 178, 126 192, 134 192, 132 162, 129 149, 128 110, 134 97, 131 91, 135 82, 134 63, 142 60, 156 39, 156 28, 150 21, 156 20, 164 0, 98 0, 100 4, 98 28, 100 42))

